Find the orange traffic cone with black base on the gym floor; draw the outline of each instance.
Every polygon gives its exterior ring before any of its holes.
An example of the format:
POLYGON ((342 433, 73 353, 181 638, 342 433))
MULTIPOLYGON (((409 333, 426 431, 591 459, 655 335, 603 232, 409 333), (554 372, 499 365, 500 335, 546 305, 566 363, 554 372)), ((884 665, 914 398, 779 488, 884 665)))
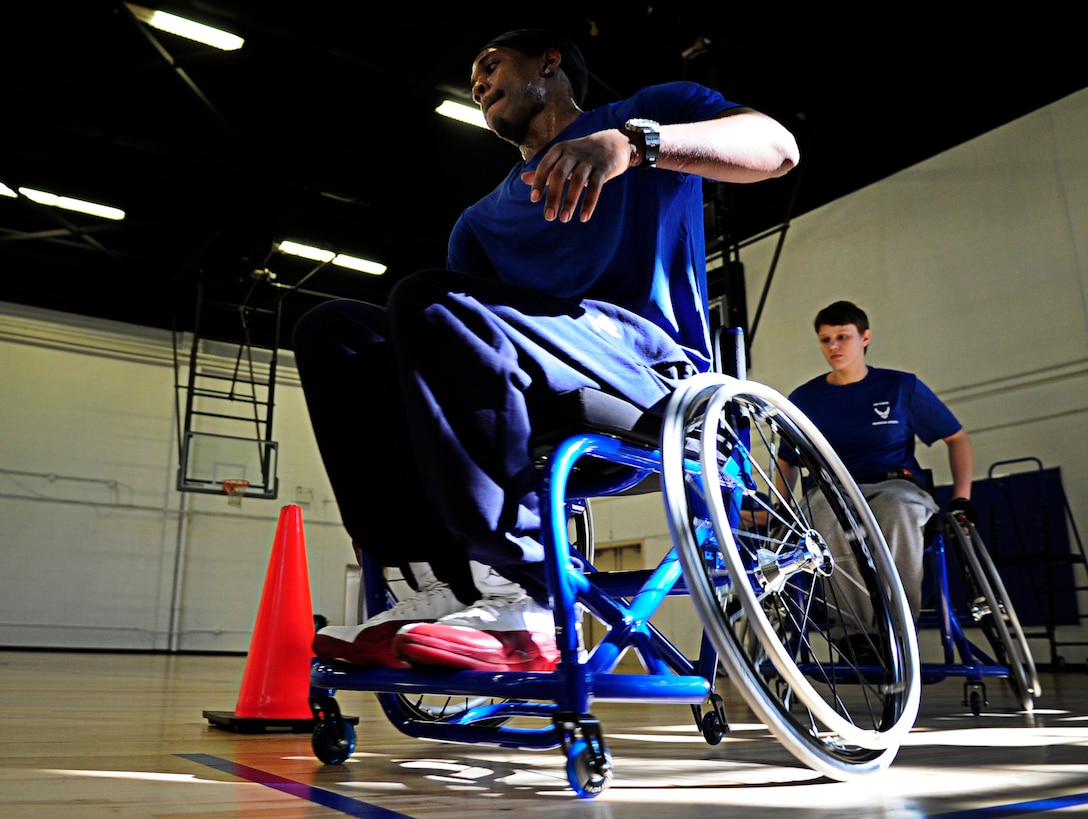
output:
POLYGON ((302 510, 290 504, 280 510, 238 702, 233 713, 205 711, 208 721, 239 733, 268 728, 312 730, 313 631, 302 510))

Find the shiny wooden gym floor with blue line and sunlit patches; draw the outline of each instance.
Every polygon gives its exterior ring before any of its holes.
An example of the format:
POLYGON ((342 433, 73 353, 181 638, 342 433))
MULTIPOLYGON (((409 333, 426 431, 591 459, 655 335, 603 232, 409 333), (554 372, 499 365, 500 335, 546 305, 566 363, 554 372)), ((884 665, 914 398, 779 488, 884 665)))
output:
POLYGON ((726 687, 731 733, 709 746, 687 706, 601 703, 611 785, 579 799, 558 749, 426 742, 397 732, 370 694, 345 765, 308 733, 240 734, 245 658, 0 650, 0 816, 71 817, 955 817, 1088 815, 1088 674, 1040 674, 1034 713, 1003 680, 974 717, 962 681, 923 688, 922 716, 886 771, 832 782, 800 766, 726 687))

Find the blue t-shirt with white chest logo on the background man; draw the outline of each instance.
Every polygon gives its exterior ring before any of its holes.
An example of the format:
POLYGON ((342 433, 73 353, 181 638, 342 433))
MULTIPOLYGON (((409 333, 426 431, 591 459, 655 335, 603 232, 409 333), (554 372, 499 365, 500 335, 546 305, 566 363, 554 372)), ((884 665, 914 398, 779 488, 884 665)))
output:
MULTIPOLYGON (((831 384, 820 375, 794 389, 790 400, 824 433, 855 480, 916 471, 915 438, 930 446, 962 429, 916 375, 898 370, 870 367, 853 384, 831 384)), ((789 450, 779 455, 796 464, 789 450)))

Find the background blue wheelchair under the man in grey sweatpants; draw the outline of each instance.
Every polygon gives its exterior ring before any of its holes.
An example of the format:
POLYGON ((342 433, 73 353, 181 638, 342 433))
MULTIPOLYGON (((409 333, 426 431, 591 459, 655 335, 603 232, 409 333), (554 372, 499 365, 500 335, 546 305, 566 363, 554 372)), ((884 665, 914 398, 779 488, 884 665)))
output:
POLYGON ((923 684, 963 678, 963 704, 977 717, 989 703, 986 678, 1003 678, 1018 705, 1033 710, 1042 688, 1031 648, 978 530, 962 512, 939 513, 927 529, 918 629, 938 632, 943 661, 922 663, 923 684), (950 573, 950 566, 959 571, 950 573), (968 630, 985 637, 990 650, 968 630))

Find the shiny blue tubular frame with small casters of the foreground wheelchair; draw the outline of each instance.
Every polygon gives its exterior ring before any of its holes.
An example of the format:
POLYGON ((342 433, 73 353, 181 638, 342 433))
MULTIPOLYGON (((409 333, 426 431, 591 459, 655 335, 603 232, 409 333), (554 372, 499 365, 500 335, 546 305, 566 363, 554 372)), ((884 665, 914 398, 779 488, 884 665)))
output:
MULTIPOLYGON (((355 669, 350 666, 314 660, 311 672, 311 706, 332 735, 331 746, 319 757, 338 759, 337 743, 350 724, 343 720, 333 696, 336 690, 372 691, 390 721, 403 733, 417 739, 493 744, 521 749, 562 747, 572 764, 599 769, 589 775, 585 787, 602 787, 610 771, 599 722, 590 713, 591 700, 646 702, 690 705, 704 736, 716 744, 727 731, 725 707, 712 681, 718 656, 703 638, 697 658, 689 659, 651 622, 662 600, 685 595, 680 563, 675 550, 655 568, 626 572, 597 572, 588 563, 574 567, 569 544, 556 543, 555 533, 568 531, 567 489, 574 463, 583 457, 604 457, 609 463, 632 468, 613 480, 578 487, 585 497, 614 495, 631 488, 658 469, 655 450, 615 437, 583 433, 562 440, 546 470, 542 497, 548 499, 549 524, 543 526, 548 587, 556 618, 559 666, 555 671, 428 671, 408 669, 355 669), (588 571, 586 571, 588 570, 588 571), (584 659, 579 657, 581 604, 606 623, 608 633, 584 659), (646 674, 616 673, 619 655, 635 648, 646 663, 646 674), (453 696, 486 698, 449 719, 421 720, 405 697, 441 692, 453 696), (405 695, 405 696, 397 696, 405 695), (712 710, 702 711, 704 704, 712 710), (540 728, 510 727, 515 717, 541 717, 551 724, 540 728)), ((385 607, 386 583, 380 567, 363 564, 363 587, 371 610, 385 607)), ((320 741, 318 741, 320 742, 320 741)), ((351 743, 354 745, 354 743, 351 743)), ((346 749, 344 745, 343 749, 346 749)), ((347 752, 349 755, 350 752, 347 752)), ((585 779, 576 774, 576 780, 585 779)), ((581 795, 593 795, 585 793, 581 795)))

